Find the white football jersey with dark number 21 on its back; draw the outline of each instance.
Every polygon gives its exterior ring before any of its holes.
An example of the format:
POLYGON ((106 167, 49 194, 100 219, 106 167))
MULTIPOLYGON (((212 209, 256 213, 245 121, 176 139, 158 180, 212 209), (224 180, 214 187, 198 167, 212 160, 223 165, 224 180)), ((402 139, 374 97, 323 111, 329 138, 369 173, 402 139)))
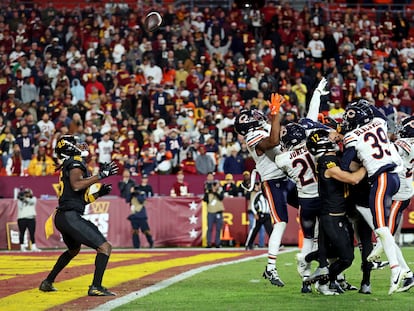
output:
POLYGON ((275 162, 296 183, 299 198, 319 196, 315 158, 306 149, 305 144, 295 150, 276 155, 275 162))

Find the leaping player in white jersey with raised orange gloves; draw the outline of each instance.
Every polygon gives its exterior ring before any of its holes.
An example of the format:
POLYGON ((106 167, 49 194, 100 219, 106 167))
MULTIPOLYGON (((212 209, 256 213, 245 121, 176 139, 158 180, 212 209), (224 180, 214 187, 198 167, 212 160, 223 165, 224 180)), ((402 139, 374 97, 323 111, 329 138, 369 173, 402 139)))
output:
POLYGON ((273 231, 269 238, 267 266, 263 277, 271 284, 284 286, 276 269, 276 257, 279 252, 283 233, 288 221, 286 175, 274 163, 279 150, 280 105, 284 99, 279 94, 272 94, 270 108, 270 124, 266 117, 256 109, 242 110, 236 117, 234 128, 244 137, 249 153, 256 162, 256 170, 262 180, 262 189, 269 205, 274 221, 273 231))

